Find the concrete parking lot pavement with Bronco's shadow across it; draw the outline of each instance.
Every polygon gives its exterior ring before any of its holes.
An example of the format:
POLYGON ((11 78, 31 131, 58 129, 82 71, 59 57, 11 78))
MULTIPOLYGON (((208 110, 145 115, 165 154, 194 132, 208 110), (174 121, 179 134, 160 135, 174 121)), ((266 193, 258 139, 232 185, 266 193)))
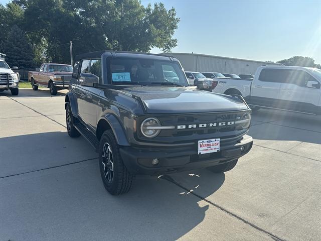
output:
POLYGON ((321 240, 321 116, 259 110, 225 174, 136 177, 111 196, 64 93, 0 93, 0 240, 321 240))

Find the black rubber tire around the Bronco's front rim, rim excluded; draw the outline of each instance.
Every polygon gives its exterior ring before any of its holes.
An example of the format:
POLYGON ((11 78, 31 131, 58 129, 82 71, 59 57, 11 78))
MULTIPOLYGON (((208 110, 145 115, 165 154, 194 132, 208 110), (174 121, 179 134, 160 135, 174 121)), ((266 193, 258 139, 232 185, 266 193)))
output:
POLYGON ((125 167, 120 156, 119 145, 117 144, 116 138, 111 130, 105 131, 100 139, 99 169, 104 187, 111 195, 119 195, 129 191, 134 175, 132 175, 125 167), (104 174, 103 147, 105 144, 108 144, 112 153, 113 177, 111 182, 108 181, 108 178, 104 174))

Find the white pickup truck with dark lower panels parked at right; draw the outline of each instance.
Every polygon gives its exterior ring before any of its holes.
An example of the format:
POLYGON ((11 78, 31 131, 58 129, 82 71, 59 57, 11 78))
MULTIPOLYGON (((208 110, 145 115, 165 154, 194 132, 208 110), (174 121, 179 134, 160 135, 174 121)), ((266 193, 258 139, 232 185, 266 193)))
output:
POLYGON ((321 70, 261 66, 253 80, 216 78, 213 92, 242 95, 250 107, 321 114, 321 70))

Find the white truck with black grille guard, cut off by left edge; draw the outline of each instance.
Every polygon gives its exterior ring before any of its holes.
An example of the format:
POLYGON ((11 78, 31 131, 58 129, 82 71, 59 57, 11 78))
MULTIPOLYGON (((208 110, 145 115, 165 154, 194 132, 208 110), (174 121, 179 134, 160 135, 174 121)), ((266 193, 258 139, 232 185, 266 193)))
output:
MULTIPOLYGON (((18 67, 13 67, 18 69, 18 67)), ((5 60, 0 59, 0 92, 10 90, 12 95, 19 94, 19 73, 15 73, 5 60)))

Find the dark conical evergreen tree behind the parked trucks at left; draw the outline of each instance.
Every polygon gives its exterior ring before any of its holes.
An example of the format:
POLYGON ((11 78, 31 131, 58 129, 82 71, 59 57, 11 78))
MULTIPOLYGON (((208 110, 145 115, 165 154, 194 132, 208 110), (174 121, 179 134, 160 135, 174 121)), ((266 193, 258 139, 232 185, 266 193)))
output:
POLYGON ((20 69, 33 68, 33 50, 26 35, 14 25, 5 42, 6 61, 9 66, 18 66, 20 69))

